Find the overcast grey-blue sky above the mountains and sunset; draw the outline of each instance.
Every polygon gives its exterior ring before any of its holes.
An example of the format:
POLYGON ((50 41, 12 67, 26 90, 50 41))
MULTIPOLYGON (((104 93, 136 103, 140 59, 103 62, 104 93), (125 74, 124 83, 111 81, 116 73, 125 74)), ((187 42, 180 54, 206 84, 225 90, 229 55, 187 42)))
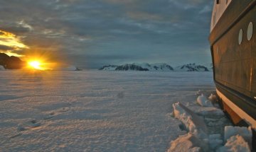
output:
POLYGON ((210 63, 212 5, 208 0, 0 0, 0 35, 13 33, 27 46, 2 43, 0 51, 48 54, 81 68, 210 63))

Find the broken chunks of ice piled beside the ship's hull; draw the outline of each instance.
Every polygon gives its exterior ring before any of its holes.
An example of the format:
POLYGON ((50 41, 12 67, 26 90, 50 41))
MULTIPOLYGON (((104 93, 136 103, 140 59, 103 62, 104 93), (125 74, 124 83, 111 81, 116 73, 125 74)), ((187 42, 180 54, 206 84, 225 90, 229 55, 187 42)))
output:
POLYGON ((169 151, 250 151, 251 128, 230 126, 228 119, 215 105, 216 96, 211 93, 207 99, 202 91, 196 93, 201 94, 196 99, 201 107, 188 104, 193 109, 190 110, 182 103, 173 104, 174 117, 183 123, 187 134, 171 141, 169 151))

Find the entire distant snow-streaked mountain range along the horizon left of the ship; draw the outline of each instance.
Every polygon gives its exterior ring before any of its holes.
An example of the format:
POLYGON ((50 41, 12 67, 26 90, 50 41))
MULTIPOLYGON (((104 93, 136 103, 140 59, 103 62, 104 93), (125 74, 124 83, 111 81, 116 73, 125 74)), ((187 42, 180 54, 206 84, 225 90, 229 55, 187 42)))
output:
POLYGON ((123 64, 102 66, 99 70, 102 71, 212 71, 212 64, 197 65, 184 64, 173 68, 169 64, 123 64))

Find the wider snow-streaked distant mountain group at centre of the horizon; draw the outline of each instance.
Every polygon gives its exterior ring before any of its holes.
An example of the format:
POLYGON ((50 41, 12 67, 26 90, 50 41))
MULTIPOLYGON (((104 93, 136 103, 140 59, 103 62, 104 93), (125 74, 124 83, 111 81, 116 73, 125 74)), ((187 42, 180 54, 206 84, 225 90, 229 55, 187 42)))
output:
POLYGON ((168 64, 123 64, 121 66, 108 65, 102 66, 99 70, 107 71, 173 71, 174 69, 168 64))

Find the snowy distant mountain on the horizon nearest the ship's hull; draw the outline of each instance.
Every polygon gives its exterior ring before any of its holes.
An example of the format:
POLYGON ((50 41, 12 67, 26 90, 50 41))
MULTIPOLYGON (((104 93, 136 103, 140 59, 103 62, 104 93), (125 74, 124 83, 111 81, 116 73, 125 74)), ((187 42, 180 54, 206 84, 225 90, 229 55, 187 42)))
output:
POLYGON ((184 64, 182 66, 177 66, 174 71, 210 71, 210 69, 206 66, 196 64, 184 64))

